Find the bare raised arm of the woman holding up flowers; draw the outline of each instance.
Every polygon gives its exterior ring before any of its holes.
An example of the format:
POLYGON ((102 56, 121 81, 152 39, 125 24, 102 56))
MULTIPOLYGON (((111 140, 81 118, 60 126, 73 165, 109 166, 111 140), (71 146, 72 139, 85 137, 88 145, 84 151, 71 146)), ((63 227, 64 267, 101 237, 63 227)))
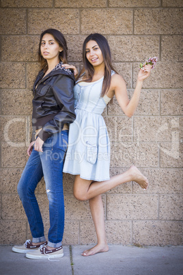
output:
POLYGON ((129 118, 135 114, 135 111, 139 104, 143 80, 150 76, 151 68, 151 65, 147 65, 143 67, 143 69, 139 70, 135 91, 130 101, 128 99, 126 83, 124 79, 120 75, 112 76, 111 86, 113 87, 113 90, 115 92, 117 102, 119 103, 119 106, 122 108, 124 114, 126 114, 126 116, 128 116, 129 118))

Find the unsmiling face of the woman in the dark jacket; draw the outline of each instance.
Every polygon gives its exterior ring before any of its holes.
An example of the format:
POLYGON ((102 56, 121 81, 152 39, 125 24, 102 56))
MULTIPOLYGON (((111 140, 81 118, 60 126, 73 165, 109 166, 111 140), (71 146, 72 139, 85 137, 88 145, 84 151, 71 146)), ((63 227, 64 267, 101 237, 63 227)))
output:
POLYGON ((62 51, 62 48, 52 34, 44 34, 40 50, 45 60, 57 59, 59 61, 59 52, 62 51))

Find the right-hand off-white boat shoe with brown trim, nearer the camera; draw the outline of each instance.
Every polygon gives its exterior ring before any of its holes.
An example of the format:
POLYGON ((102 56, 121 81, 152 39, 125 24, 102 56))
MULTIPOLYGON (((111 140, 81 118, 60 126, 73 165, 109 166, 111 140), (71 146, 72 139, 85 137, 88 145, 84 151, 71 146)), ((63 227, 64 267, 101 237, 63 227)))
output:
POLYGON ((63 256, 64 251, 62 246, 60 246, 59 248, 54 248, 53 250, 48 250, 46 246, 41 246, 39 250, 26 253, 26 257, 29 259, 51 259, 61 258, 63 256))

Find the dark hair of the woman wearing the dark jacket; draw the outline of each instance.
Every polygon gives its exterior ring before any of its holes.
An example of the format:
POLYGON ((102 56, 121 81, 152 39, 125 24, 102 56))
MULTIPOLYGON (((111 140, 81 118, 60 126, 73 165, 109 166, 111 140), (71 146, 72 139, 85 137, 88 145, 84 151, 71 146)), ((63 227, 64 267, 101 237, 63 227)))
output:
POLYGON ((47 61, 42 57, 41 54, 41 43, 42 43, 42 37, 44 34, 51 34, 55 41, 59 43, 59 46, 63 49, 61 53, 59 53, 59 60, 62 61, 63 63, 68 63, 68 46, 66 39, 64 38, 64 35, 61 34, 60 31, 57 29, 46 29, 45 31, 42 32, 40 35, 40 44, 39 44, 39 49, 38 49, 38 60, 40 62, 41 69, 44 70, 44 73, 46 73, 46 70, 48 69, 48 64, 47 61))

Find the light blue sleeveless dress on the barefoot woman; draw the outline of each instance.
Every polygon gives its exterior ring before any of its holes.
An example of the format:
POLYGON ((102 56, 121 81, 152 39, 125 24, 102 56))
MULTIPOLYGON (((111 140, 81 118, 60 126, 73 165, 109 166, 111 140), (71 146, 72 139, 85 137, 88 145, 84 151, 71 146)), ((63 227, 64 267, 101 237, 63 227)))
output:
POLYGON ((70 125, 63 170, 92 181, 110 179, 110 142, 101 115, 107 105, 100 96, 102 83, 103 77, 74 86, 76 120, 70 125))

